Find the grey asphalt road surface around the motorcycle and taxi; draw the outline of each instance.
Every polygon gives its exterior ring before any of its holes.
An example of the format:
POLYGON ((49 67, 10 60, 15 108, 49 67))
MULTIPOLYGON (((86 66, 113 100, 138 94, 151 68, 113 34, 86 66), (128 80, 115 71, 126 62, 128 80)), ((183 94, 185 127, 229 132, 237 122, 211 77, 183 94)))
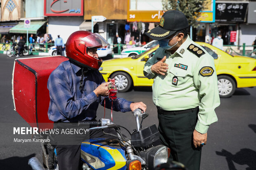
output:
MULTIPOLYGON (((35 56, 31 56, 35 57, 35 56)), ((28 159, 36 156, 42 160, 39 143, 14 144, 13 127, 29 125, 14 111, 12 100, 12 69, 15 58, 0 54, 0 169, 29 169, 28 159)), ((156 107, 152 102, 151 87, 137 87, 127 93, 117 93, 119 98, 142 101, 149 116, 142 126, 158 125, 156 107)), ((256 88, 239 88, 231 98, 221 98, 216 108, 218 122, 208 130, 207 145, 202 149, 201 170, 255 170, 256 169, 256 88)), ((184 101, 185 102, 185 101, 184 101)), ((103 118, 104 107, 99 106, 97 119, 103 118)), ((111 119, 111 110, 106 117, 111 119)), ((130 131, 136 128, 131 112, 113 112, 113 122, 130 131)), ((24 136, 24 138, 31 135, 24 136)))

